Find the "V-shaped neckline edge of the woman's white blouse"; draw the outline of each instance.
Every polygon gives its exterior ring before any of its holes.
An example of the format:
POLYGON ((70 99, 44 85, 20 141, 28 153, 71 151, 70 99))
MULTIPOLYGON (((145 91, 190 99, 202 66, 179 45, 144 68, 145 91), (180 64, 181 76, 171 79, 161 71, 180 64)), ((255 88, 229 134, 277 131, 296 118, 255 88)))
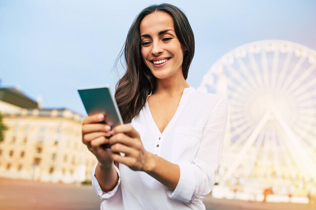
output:
POLYGON ((185 104, 185 102, 187 101, 187 93, 189 92, 189 90, 194 90, 193 87, 189 86, 187 88, 185 88, 183 90, 182 96, 180 98, 180 102, 179 105, 177 107, 176 112, 174 113, 174 115, 172 116, 171 120, 168 122, 167 126, 165 127, 165 129, 163 130, 163 132, 160 131, 159 127, 157 126, 156 122, 153 119, 153 116, 151 114, 149 105, 148 105, 148 98, 149 96, 151 96, 151 93, 148 95, 147 100, 146 100, 146 104, 145 104, 145 108, 147 109, 147 118, 148 118, 148 123, 150 124, 150 127, 152 128, 153 131, 155 131, 159 136, 164 135, 166 132, 168 132, 169 128, 172 126, 172 124, 174 123, 174 121, 177 119, 179 113, 181 113, 182 109, 183 109, 183 105, 185 104))

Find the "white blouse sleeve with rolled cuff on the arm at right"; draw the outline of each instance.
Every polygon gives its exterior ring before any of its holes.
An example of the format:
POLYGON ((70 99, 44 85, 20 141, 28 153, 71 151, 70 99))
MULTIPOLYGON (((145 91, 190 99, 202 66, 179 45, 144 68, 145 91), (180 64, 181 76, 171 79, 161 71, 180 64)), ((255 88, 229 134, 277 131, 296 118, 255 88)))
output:
POLYGON ((226 99, 222 98, 210 112, 194 160, 178 163, 180 179, 175 190, 167 193, 169 198, 194 202, 204 198, 213 189, 222 156, 227 106, 226 99))

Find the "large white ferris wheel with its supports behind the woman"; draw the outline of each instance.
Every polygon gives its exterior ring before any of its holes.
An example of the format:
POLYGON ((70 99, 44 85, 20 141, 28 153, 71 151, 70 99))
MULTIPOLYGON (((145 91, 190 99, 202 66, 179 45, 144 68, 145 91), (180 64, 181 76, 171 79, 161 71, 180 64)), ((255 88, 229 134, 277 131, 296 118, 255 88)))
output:
POLYGON ((228 100, 220 186, 316 189, 316 51, 283 40, 248 43, 219 59, 199 90, 228 100))

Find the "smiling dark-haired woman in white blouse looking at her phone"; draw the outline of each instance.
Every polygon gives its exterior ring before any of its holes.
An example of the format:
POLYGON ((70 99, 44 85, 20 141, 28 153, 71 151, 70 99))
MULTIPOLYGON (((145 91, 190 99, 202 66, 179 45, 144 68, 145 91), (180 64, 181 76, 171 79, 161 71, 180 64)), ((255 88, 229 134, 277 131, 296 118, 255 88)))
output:
POLYGON ((193 54, 192 29, 175 6, 150 6, 132 24, 124 48, 127 71, 115 94, 127 124, 111 130, 101 124, 104 114, 83 122, 83 143, 98 160, 92 185, 104 199, 101 209, 205 209, 227 103, 186 83, 193 54))

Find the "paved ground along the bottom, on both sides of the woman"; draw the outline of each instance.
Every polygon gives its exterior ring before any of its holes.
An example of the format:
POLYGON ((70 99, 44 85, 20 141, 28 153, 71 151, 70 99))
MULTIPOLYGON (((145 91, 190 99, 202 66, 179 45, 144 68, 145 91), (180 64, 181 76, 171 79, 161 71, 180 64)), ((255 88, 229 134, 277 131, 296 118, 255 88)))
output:
MULTIPOLYGON (((0 210, 97 210, 100 202, 91 186, 0 179, 0 210)), ((316 209, 316 205, 249 202, 214 199, 210 196, 203 202, 207 210, 316 209)))

